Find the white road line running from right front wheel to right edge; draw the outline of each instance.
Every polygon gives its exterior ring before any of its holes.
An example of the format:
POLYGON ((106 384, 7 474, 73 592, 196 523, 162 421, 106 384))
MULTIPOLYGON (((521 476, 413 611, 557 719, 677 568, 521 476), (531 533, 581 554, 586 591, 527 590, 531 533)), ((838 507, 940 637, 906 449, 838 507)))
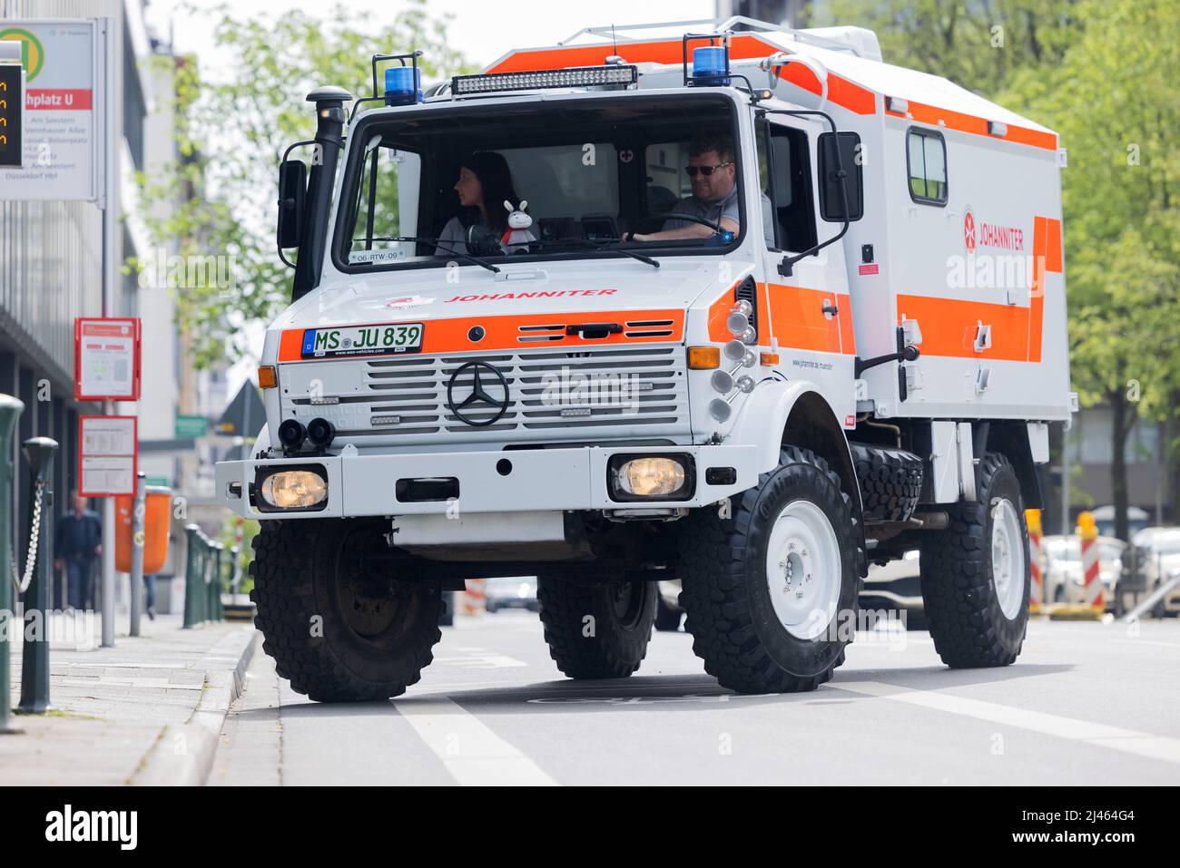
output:
POLYGON ((1180 763, 1180 738, 1155 736, 1149 732, 1122 729, 1121 726, 1108 726, 1103 723, 1079 721, 1075 717, 1050 715, 1043 711, 1029 711, 1027 709, 1012 708, 1011 705, 998 705, 996 703, 983 702, 982 699, 968 699, 962 696, 951 696, 929 690, 914 690, 881 682, 840 682, 830 686, 853 693, 904 702, 910 705, 920 705, 922 708, 945 711, 952 715, 974 717, 979 721, 990 721, 991 723, 1028 729, 1034 732, 1057 736, 1058 738, 1086 742, 1101 748, 1122 750, 1153 760, 1180 763))

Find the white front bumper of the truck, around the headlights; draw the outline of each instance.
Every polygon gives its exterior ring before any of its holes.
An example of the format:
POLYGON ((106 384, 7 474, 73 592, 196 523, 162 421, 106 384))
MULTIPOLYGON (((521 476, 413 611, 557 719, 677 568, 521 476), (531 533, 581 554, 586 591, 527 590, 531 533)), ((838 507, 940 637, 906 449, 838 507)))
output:
POLYGON ((222 461, 217 465, 217 500, 249 519, 353 518, 448 513, 505 513, 566 509, 627 512, 697 507, 752 488, 758 482, 756 446, 579 447, 511 452, 452 452, 396 455, 326 455, 322 458, 222 461), (607 485, 611 455, 688 454, 696 465, 696 487, 687 500, 612 500, 607 485), (506 468, 503 461, 511 463, 506 468), (316 511, 261 512, 251 491, 257 468, 320 465, 328 478, 328 499, 316 511), (706 471, 733 467, 736 481, 710 485, 706 471), (507 469, 507 473, 504 471, 507 469), (402 502, 399 480, 453 478, 459 497, 402 502))

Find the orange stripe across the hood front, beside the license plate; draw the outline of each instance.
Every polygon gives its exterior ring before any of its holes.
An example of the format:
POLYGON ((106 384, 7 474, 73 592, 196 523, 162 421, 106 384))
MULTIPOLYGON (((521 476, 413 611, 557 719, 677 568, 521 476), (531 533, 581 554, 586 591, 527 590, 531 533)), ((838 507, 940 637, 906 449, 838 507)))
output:
MULTIPOLYGON (((424 322, 422 320, 399 320, 398 322, 424 322)), ((382 323, 358 323, 359 326, 392 326, 393 322, 382 323)), ((526 314, 509 316, 465 316, 455 320, 427 320, 426 331, 422 335, 422 355, 438 355, 440 353, 474 353, 480 350, 498 349, 545 349, 549 347, 576 347, 585 348, 603 343, 668 343, 681 341, 684 336, 684 311, 683 310, 627 310, 627 311, 599 311, 591 314, 526 314), (635 330, 661 330, 671 331, 670 335, 631 336, 628 337, 625 323, 648 320, 671 320, 671 326, 667 327, 640 327, 635 330), (525 341, 517 338, 530 335, 548 334, 544 331, 519 331, 520 326, 575 326, 586 322, 618 322, 624 324, 624 330, 615 335, 601 338, 588 338, 581 335, 566 335, 564 331, 552 334, 560 335, 557 341, 525 341), (481 341, 473 343, 467 337, 467 331, 472 326, 483 326, 485 335, 481 341)), ((336 326, 323 326, 320 328, 348 328, 352 323, 336 326)), ((287 329, 278 341, 278 361, 297 362, 302 360, 303 331, 306 329, 287 329)), ((394 355, 394 354, 387 354, 394 355)), ((402 354, 396 354, 402 355, 402 354)), ((417 355, 417 354, 415 354, 417 355)), ((358 359, 369 359, 372 356, 353 356, 358 359)), ((308 360, 310 361, 310 360, 308 360)))

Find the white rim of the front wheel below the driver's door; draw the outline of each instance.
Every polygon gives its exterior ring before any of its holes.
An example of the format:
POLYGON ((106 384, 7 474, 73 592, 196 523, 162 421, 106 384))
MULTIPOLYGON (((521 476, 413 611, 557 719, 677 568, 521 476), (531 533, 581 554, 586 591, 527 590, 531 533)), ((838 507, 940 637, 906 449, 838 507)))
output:
POLYGON ((766 547, 766 584, 774 614, 788 633, 822 634, 840 604, 844 564, 827 515, 809 500, 793 500, 774 521, 766 547))

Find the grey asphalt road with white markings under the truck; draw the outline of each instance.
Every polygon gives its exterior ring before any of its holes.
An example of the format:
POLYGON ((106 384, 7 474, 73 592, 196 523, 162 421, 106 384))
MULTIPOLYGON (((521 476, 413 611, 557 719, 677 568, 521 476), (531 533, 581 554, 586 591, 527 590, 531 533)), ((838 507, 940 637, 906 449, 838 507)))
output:
POLYGON ((211 784, 1176 784, 1180 622, 1035 620, 1012 666, 943 666, 929 633, 861 633, 827 685, 736 696, 683 631, 640 672, 565 679, 536 614, 444 627, 388 703, 322 705, 261 643, 211 784))

